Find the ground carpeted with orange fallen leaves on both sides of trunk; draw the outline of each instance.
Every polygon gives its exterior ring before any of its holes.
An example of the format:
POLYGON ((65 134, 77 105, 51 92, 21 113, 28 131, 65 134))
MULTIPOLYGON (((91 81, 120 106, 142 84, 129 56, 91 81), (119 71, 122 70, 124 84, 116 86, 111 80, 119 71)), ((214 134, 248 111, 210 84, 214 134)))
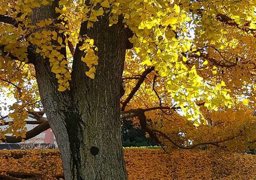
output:
MULTIPOLYGON (((256 156, 209 151, 126 148, 129 180, 256 180, 256 156)), ((58 150, 0 151, 0 179, 63 178, 58 150)))

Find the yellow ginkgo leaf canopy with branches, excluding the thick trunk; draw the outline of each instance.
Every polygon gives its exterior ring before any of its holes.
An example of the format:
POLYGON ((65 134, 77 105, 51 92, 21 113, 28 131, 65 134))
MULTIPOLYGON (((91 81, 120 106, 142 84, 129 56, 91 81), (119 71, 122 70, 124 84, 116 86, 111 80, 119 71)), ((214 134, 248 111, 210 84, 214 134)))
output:
POLYGON ((255 146, 255 0, 0 0, 0 89, 16 99, 8 107, 13 121, 1 121, 8 125, 1 141, 23 141, 49 128, 35 53, 50 62, 58 91, 70 91, 79 68, 75 51, 83 52, 84 76, 95 78, 94 41, 100 40, 79 31, 102 16, 109 26, 122 20, 131 34, 120 119, 132 119, 168 147, 255 146), (56 2, 56 18, 34 22, 33 13, 56 2), (26 132, 29 114, 39 126, 26 132))

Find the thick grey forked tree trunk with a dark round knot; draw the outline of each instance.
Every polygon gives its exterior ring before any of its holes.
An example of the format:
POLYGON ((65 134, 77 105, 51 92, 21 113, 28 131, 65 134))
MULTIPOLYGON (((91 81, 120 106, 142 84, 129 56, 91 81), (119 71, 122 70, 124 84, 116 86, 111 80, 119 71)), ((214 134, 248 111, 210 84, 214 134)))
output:
MULTIPOLYGON (((47 18, 45 12, 54 15, 54 5, 35 11, 36 21, 40 14, 47 18)), ((107 16, 90 30, 85 27, 81 35, 93 38, 99 48, 95 79, 86 77, 83 53, 76 48, 71 90, 59 92, 49 62, 37 55, 39 93, 60 149, 65 180, 126 180, 119 101, 128 30, 121 20, 109 27, 107 16)))

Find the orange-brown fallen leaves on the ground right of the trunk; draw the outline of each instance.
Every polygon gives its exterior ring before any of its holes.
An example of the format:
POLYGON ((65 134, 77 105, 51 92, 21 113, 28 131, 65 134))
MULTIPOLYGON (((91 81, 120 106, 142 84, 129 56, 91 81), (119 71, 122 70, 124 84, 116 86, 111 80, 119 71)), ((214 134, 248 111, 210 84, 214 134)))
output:
POLYGON ((125 149, 129 180, 253 180, 256 157, 236 153, 125 149), (243 163, 245 162, 245 163, 243 163))

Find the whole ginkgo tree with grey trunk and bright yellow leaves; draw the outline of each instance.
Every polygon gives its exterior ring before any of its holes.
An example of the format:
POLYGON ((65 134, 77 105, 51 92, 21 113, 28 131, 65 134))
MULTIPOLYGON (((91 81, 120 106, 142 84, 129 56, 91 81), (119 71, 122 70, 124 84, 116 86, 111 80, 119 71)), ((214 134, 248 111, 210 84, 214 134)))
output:
POLYGON ((16 99, 2 141, 51 127, 66 180, 127 179, 124 118, 164 148, 252 147, 255 7, 255 0, 0 0, 0 84, 16 99), (28 114, 39 125, 26 132, 28 114))

